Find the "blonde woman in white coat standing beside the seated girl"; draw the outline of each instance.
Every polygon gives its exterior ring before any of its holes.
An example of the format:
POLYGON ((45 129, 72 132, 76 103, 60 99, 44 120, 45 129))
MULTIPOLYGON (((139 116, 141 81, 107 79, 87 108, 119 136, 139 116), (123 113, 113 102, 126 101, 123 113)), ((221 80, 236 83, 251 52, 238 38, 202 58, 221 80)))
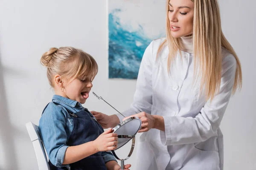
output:
MULTIPOLYGON (((241 88, 239 59, 221 31, 217 0, 167 0, 166 8, 166 38, 146 48, 123 113, 143 122, 136 169, 223 170, 220 124, 241 88)), ((104 127, 123 119, 93 114, 104 127)))

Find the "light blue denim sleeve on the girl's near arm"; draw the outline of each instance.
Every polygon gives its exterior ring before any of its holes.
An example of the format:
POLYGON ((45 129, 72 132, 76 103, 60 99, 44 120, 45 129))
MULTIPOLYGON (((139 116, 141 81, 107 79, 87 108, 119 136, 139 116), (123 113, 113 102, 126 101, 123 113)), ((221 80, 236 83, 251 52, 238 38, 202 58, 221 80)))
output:
POLYGON ((62 165, 68 147, 66 122, 67 111, 50 102, 39 121, 39 131, 51 163, 70 169, 69 164, 62 165))

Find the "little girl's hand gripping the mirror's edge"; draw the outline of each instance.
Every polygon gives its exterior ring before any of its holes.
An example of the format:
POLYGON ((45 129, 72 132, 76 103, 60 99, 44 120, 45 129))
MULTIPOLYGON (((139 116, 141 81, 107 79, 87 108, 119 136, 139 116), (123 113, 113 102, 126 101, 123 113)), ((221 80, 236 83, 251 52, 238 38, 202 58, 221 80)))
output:
POLYGON ((93 141, 93 146, 97 152, 115 150, 117 148, 117 134, 111 133, 111 131, 112 128, 106 130, 93 141))

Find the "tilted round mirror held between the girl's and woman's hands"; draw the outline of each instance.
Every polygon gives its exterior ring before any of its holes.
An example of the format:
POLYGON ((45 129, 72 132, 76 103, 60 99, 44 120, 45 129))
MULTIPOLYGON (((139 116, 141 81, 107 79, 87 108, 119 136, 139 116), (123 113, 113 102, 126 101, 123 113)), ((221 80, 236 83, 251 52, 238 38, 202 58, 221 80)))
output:
POLYGON ((118 144, 115 150, 119 149, 133 139, 140 130, 140 127, 141 120, 138 117, 128 118, 114 127, 112 132, 118 135, 118 144))

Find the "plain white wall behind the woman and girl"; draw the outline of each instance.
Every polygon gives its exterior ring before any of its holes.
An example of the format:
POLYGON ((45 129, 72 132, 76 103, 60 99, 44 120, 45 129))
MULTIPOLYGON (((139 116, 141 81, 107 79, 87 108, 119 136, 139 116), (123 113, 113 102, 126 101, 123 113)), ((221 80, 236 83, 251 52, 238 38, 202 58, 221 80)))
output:
MULTIPOLYGON (((220 6, 224 34, 243 71, 243 88, 230 100, 221 123, 224 169, 255 170, 256 3, 221 0, 220 6)), ((105 0, 0 0, 0 170, 38 169, 25 123, 38 124, 53 95, 39 62, 50 47, 74 46, 91 54, 99 64, 93 91, 119 111, 130 105, 136 81, 108 79, 106 13, 105 0)), ((92 95, 84 107, 116 113, 92 95)), ((131 170, 136 161, 135 150, 127 161, 131 170)))

